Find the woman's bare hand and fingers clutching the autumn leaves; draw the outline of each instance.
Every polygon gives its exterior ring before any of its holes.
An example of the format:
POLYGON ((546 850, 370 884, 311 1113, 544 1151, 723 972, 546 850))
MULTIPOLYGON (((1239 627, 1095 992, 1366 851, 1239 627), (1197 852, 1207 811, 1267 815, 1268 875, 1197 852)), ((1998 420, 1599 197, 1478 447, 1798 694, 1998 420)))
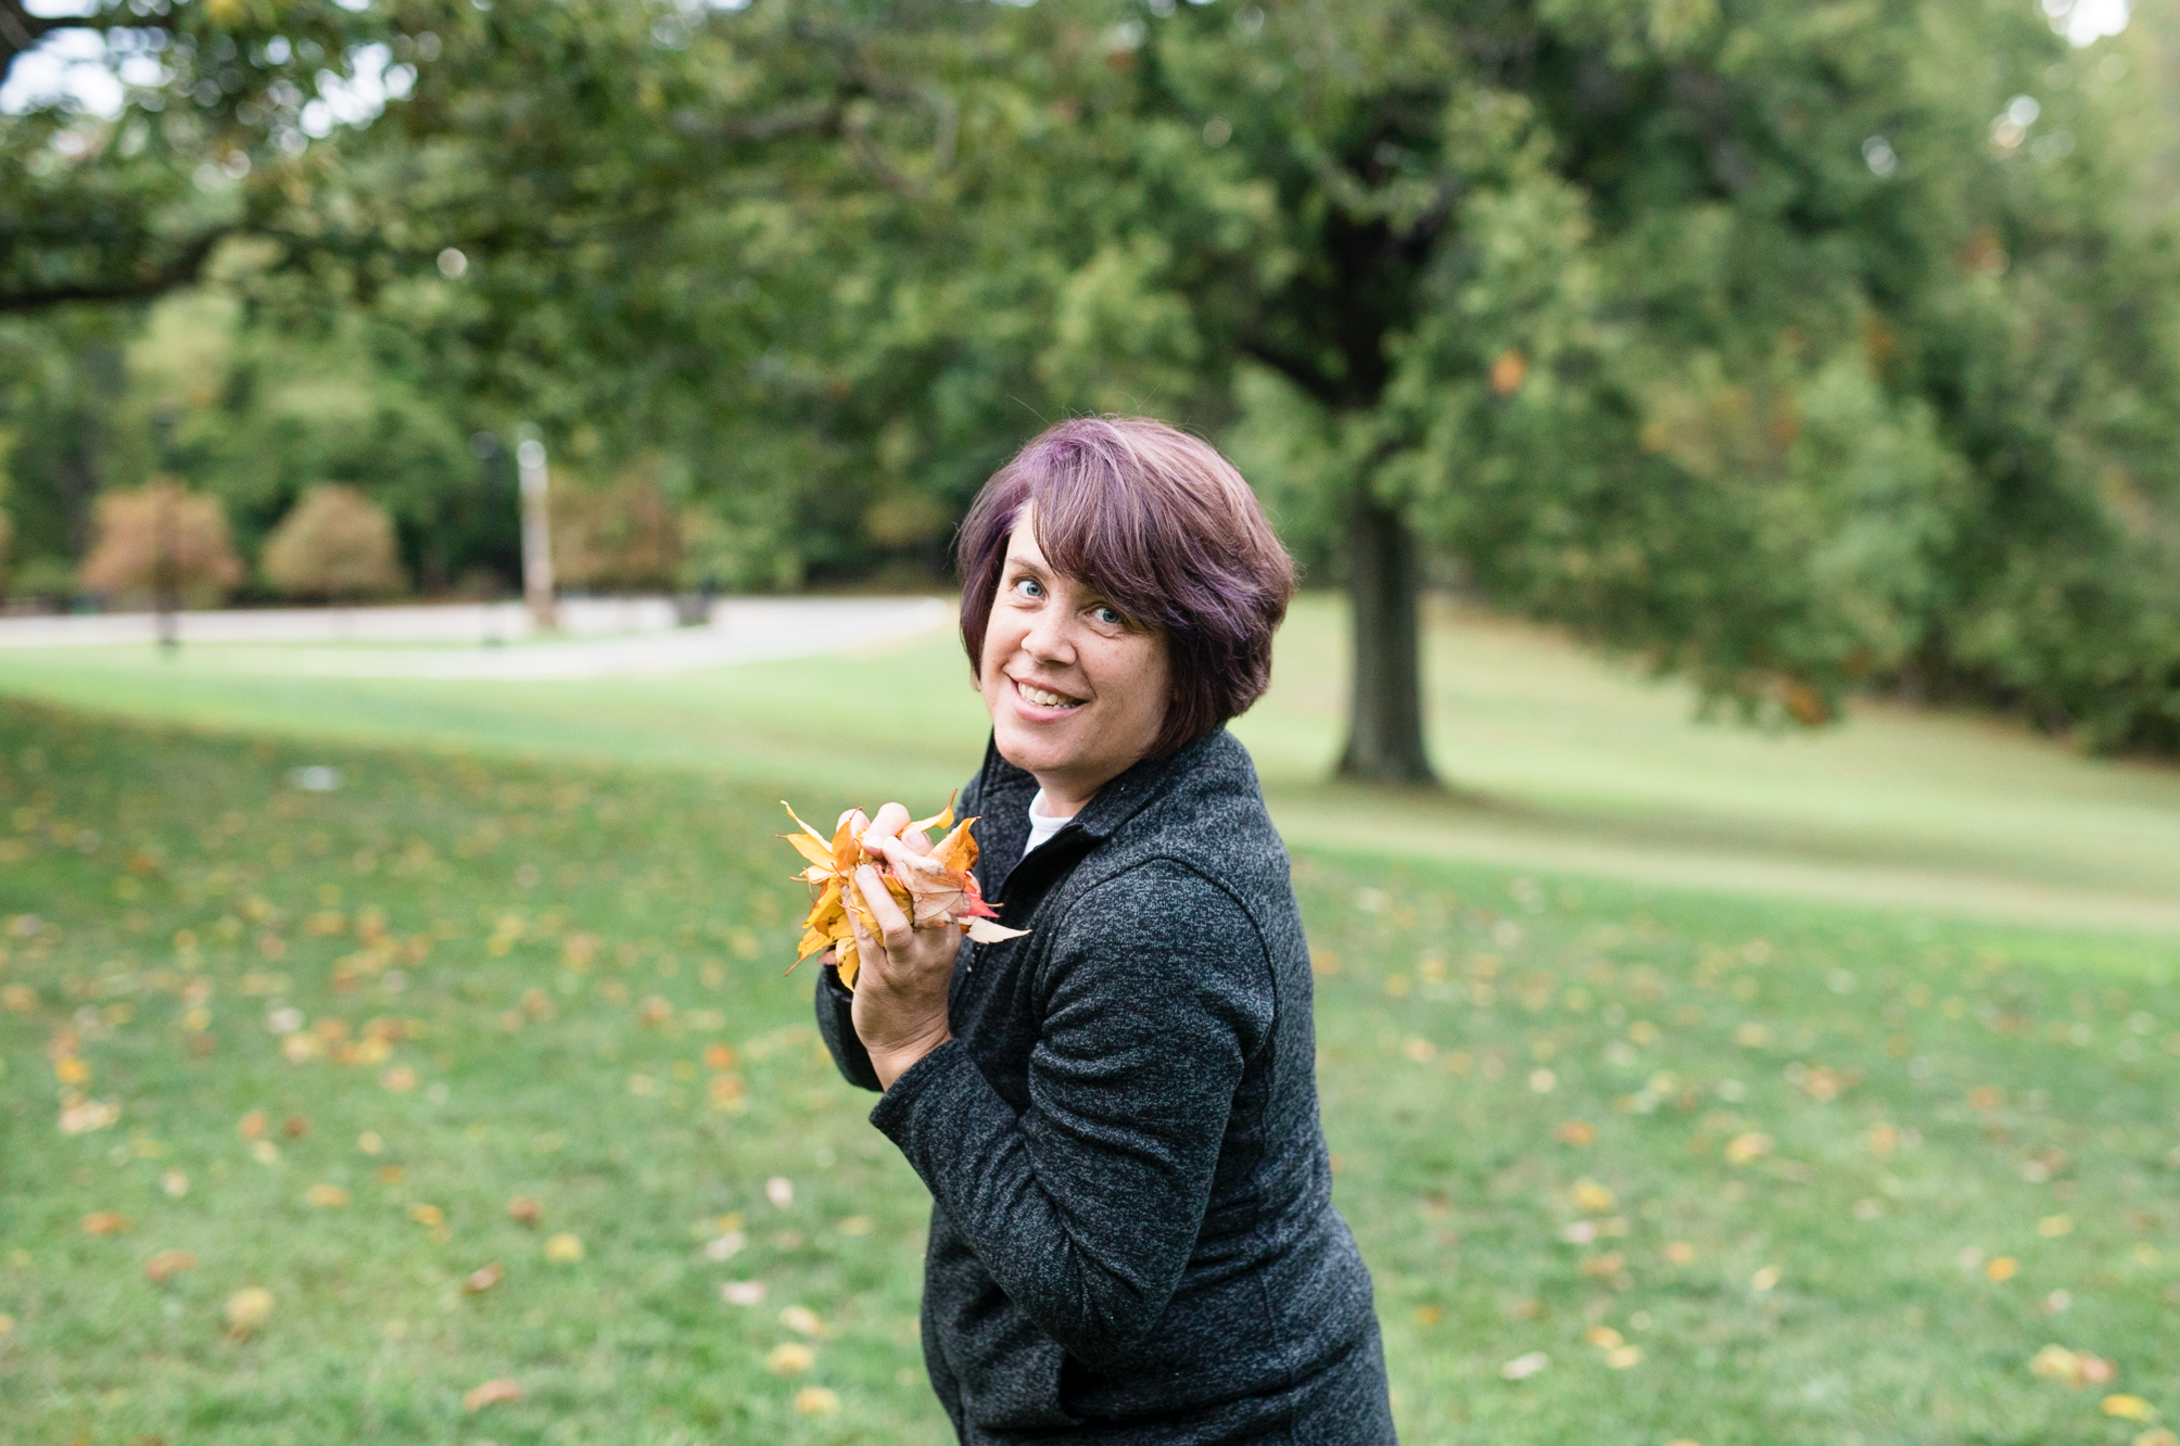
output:
MULTIPOLYGON (((898 803, 879 809, 870 822, 861 816, 855 816, 855 822, 863 848, 887 864, 894 864, 896 853, 931 853, 931 840, 922 833, 909 831, 903 838, 909 811, 898 803)), ((863 925, 863 912, 848 909, 861 962, 855 975, 855 1034, 870 1053, 879 1084, 894 1088, 894 1080, 911 1064, 953 1038, 946 988, 953 984, 955 955, 961 953, 961 929, 953 920, 924 920, 927 927, 911 927, 879 870, 868 864, 855 870, 855 888, 879 927, 872 936, 863 925)))

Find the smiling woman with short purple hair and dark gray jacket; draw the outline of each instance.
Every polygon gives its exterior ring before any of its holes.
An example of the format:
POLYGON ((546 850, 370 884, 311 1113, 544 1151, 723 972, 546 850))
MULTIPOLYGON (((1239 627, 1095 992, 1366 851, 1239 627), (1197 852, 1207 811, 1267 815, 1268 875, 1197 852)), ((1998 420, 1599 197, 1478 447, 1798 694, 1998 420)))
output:
MULTIPOLYGON (((1003 944, 883 938, 818 1021, 931 1186, 924 1361, 964 1442, 1393 1442, 1371 1282, 1317 1128, 1286 851, 1225 731, 1293 565, 1240 473, 1142 419, 1066 421, 961 523, 992 713, 961 798, 1003 944)), ((874 720, 881 722, 881 720, 874 720)), ((885 855, 898 803, 857 820, 885 855)))

